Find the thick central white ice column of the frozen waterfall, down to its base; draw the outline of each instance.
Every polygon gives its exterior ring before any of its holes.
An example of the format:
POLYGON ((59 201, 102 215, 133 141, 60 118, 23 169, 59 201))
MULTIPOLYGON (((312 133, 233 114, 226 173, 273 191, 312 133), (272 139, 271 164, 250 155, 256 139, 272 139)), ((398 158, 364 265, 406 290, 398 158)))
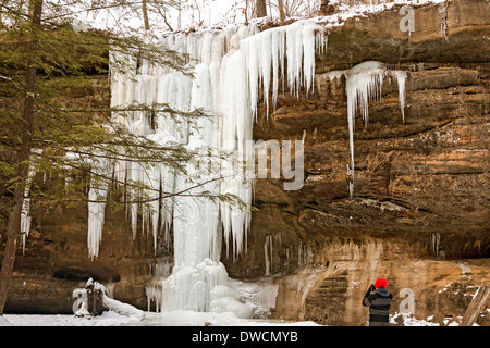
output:
MULTIPOLYGON (((250 316, 252 309, 247 304, 229 296, 233 290, 229 286, 226 270, 220 262, 221 226, 225 234, 234 236, 234 240, 243 240, 247 222, 242 214, 247 214, 248 209, 243 209, 233 215, 235 219, 230 219, 233 207, 199 197, 203 194, 218 197, 231 192, 233 185, 230 183, 238 182, 237 177, 241 176, 233 165, 244 160, 244 153, 236 151, 236 146, 241 148, 246 140, 252 139, 252 120, 248 109, 244 108, 247 94, 243 90, 242 59, 240 53, 232 52, 220 57, 224 54, 223 42, 222 35, 213 39, 206 35, 203 47, 193 49, 198 52, 196 54, 200 54, 201 62, 194 71, 191 109, 200 109, 208 116, 197 120, 194 125, 196 132, 189 133, 186 148, 195 157, 187 163, 186 171, 191 178, 199 179, 195 182, 185 176, 176 177, 175 191, 185 191, 192 197, 175 197, 174 268, 172 274, 161 283, 162 295, 157 298, 161 298, 164 311, 209 311, 217 309, 216 303, 224 301, 240 309, 241 315, 250 316), (246 125, 247 122, 249 125, 246 125), (217 158, 206 156, 209 152, 228 158, 217 161, 217 158), (232 166, 229 167, 229 164, 232 166), (230 220, 232 224, 229 224, 230 220), (223 291, 224 288, 228 290, 223 291)), ((234 192, 243 201, 249 203, 252 191, 244 194, 240 185, 246 185, 245 178, 233 188, 236 188, 234 192)))

